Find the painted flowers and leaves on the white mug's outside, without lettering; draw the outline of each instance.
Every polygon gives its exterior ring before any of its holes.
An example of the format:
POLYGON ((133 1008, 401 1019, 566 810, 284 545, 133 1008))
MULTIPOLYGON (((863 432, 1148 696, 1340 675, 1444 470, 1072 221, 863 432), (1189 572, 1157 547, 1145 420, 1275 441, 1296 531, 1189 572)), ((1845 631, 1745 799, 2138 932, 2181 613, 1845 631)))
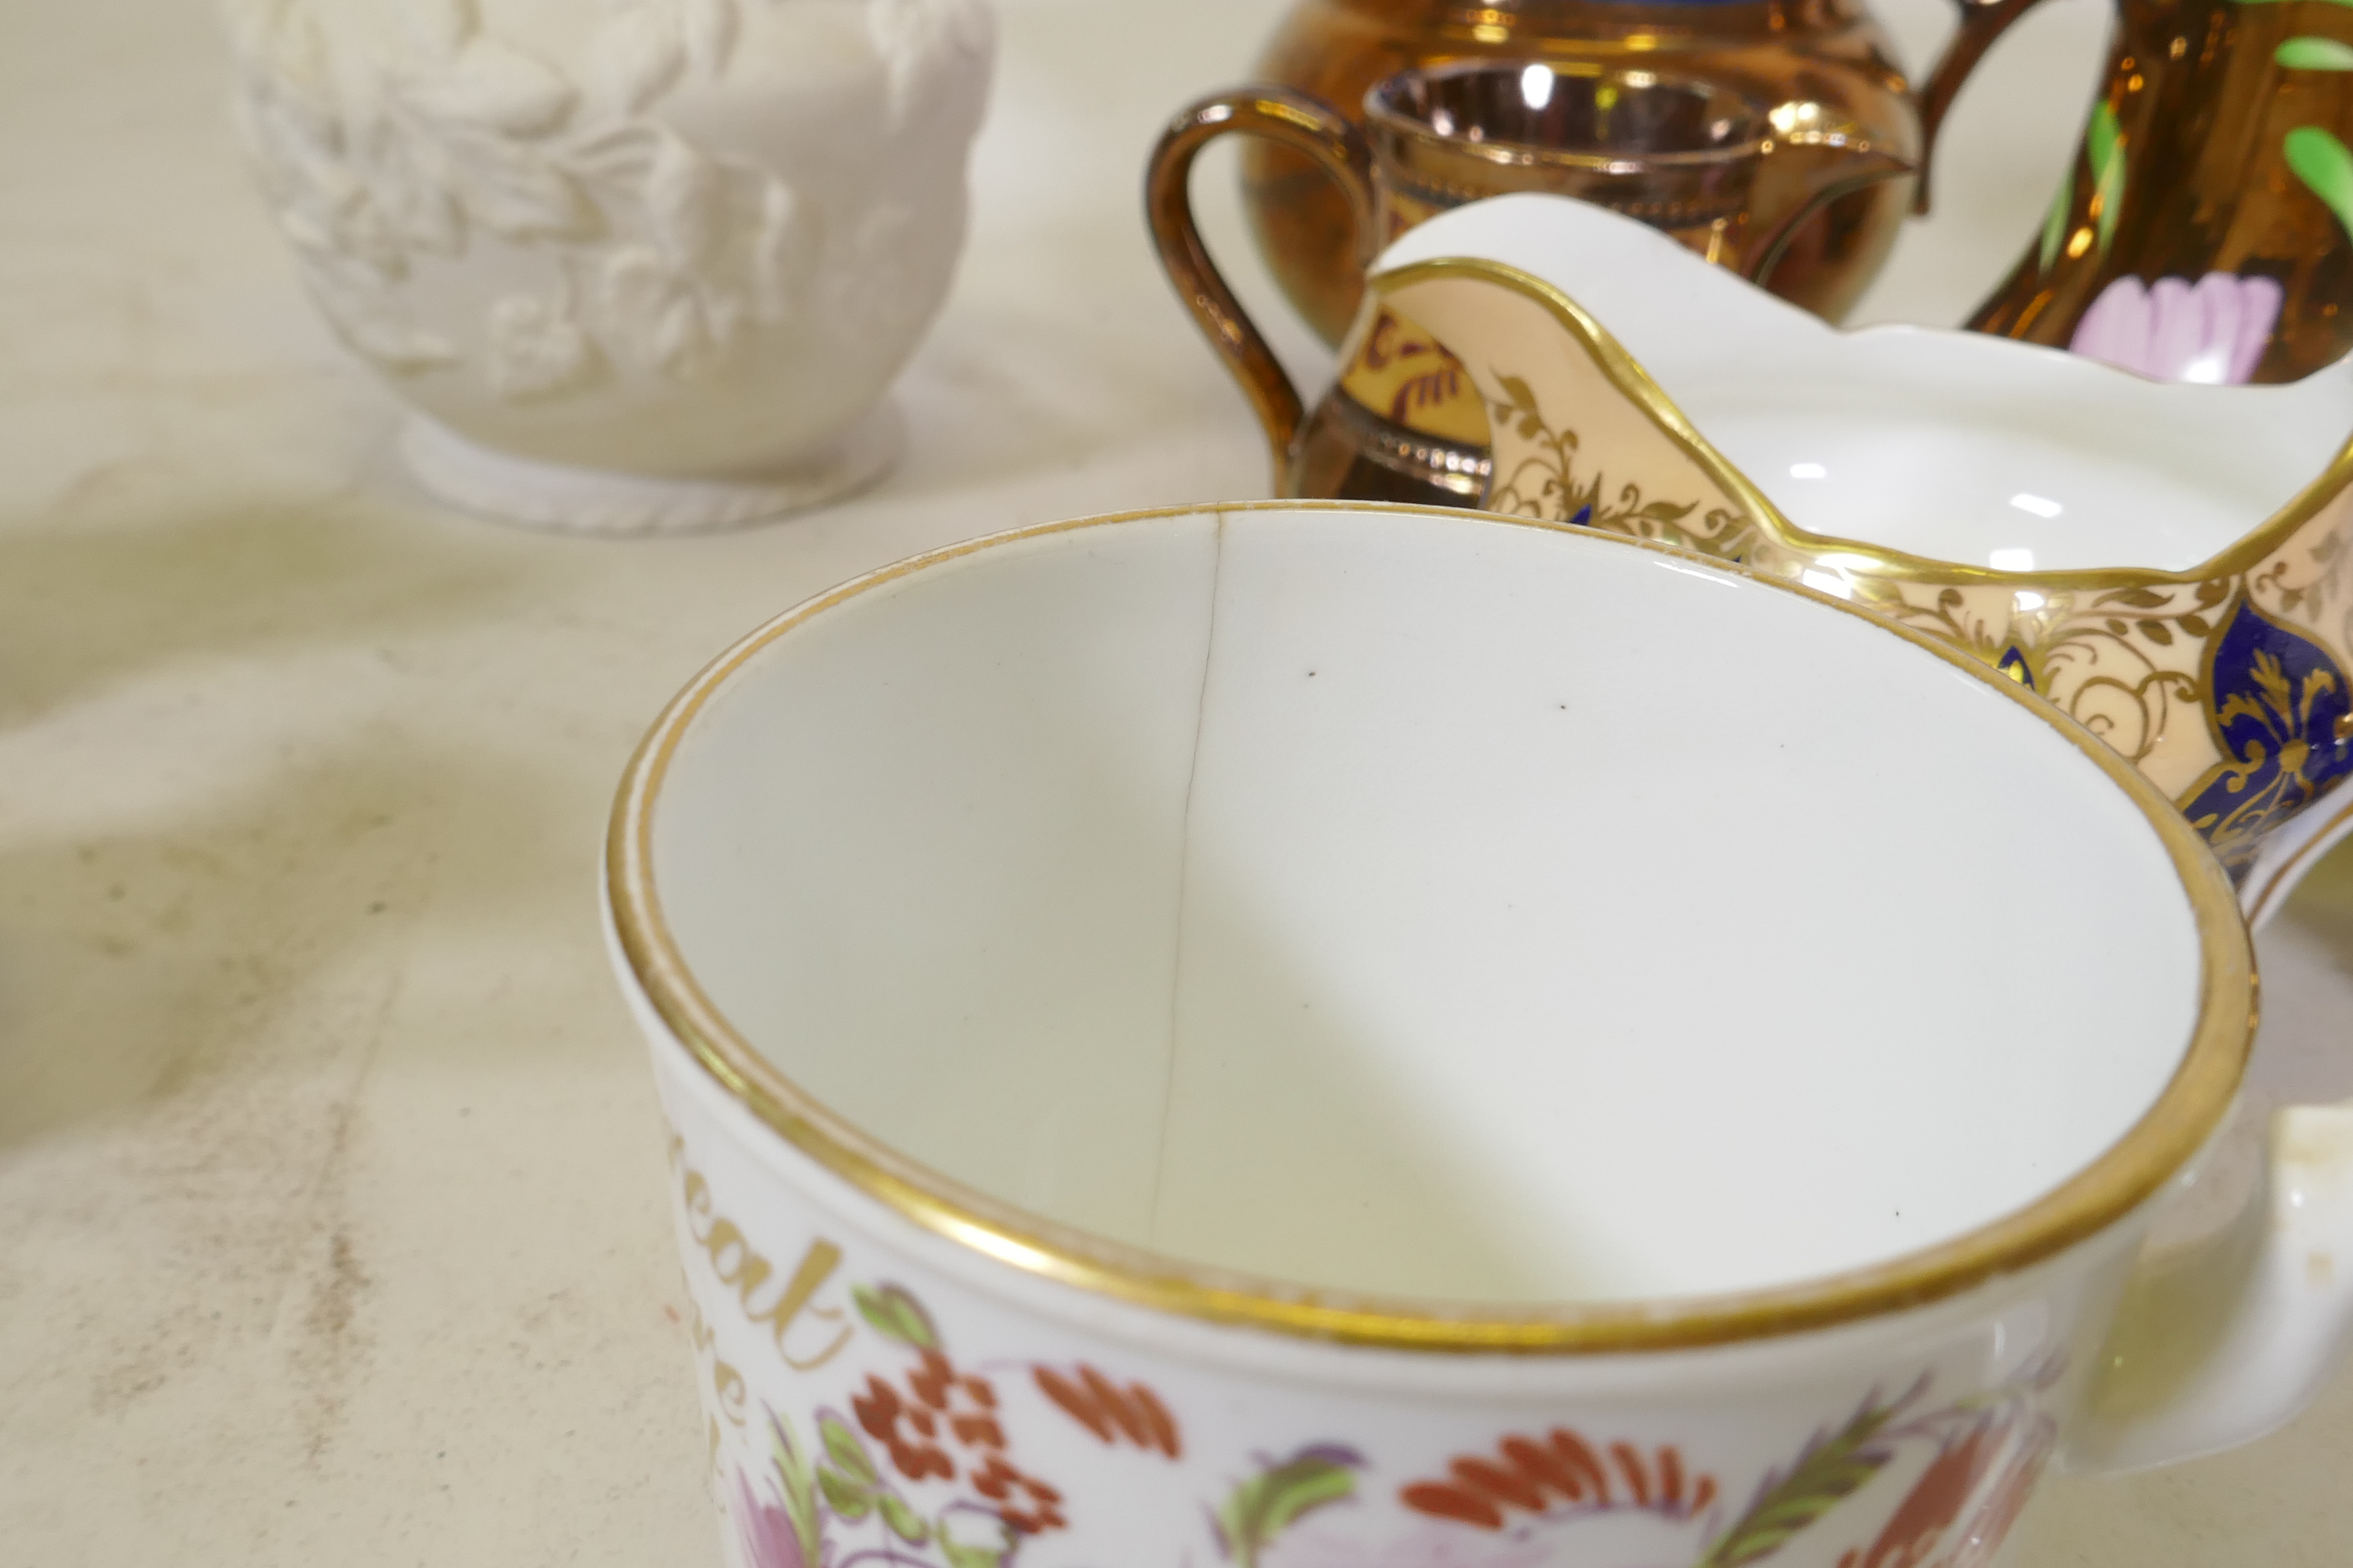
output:
MULTIPOLYGON (((1165 1462, 1186 1453, 1176 1415, 1144 1382, 1087 1363, 988 1363, 984 1375, 951 1359, 901 1286, 856 1286, 852 1300, 899 1366, 868 1371, 849 1410, 816 1408, 807 1425, 765 1410, 767 1462, 734 1469, 725 1488, 746 1568, 1012 1568, 1033 1542, 1066 1533, 1075 1512, 1101 1507, 1066 1497, 1014 1455, 995 1378, 1026 1378, 1106 1448, 1165 1462)), ((2038 1396, 2057 1378, 2049 1361, 1939 1406, 1922 1375, 1817 1432, 1746 1502, 1678 1443, 1569 1427, 1504 1434, 1442 1474, 1377 1488, 1367 1488, 1374 1462, 1346 1443, 1257 1453, 1221 1497, 1202 1502, 1202 1544, 1233 1568, 1746 1568, 1882 1474, 1908 1472, 1894 1512, 1838 1568, 1984 1568, 2052 1450, 2057 1422, 2038 1396), (1379 1493, 1398 1512, 1365 1507, 1379 1493)))

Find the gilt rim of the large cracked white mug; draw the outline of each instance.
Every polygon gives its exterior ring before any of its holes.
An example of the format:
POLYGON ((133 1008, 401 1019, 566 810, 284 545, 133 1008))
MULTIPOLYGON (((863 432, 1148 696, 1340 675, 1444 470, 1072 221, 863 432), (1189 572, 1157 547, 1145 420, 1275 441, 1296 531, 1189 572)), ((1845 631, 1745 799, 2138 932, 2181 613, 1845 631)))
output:
POLYGON ((605 842, 605 893, 614 938, 645 999, 711 1079, 760 1124, 856 1192, 913 1225, 1000 1265, 1134 1307, 1344 1345, 1471 1354, 1602 1354, 1729 1345, 1828 1328, 1960 1295, 2054 1258, 2153 1199, 2207 1143, 2228 1112, 2254 1041, 2254 947, 2228 875, 2188 818, 2139 769, 2047 701, 2019 689, 1958 649, 1882 621, 1838 597, 1689 550, 1591 529, 1433 505, 1242 501, 1146 508, 1033 524, 901 559, 809 597, 706 665, 647 731, 614 799, 605 842), (1471 527, 1527 527, 1577 534, 1602 548, 1649 550, 1708 571, 1748 578, 1769 592, 1814 599, 1857 616, 1967 672, 2019 703, 2089 757, 2151 823, 2181 879, 2198 926, 2200 976, 2191 1039, 2155 1103, 2092 1164, 2033 1204, 1988 1225, 1861 1269, 1795 1284, 1664 1300, 1478 1305, 1315 1291, 1266 1276, 1191 1265, 1108 1241, 981 1194, 868 1135, 795 1086, 704 994, 664 924, 654 886, 652 823, 671 757, 696 715, 762 649, 859 595, 1000 545, 1198 515, 1238 512, 1402 512, 1471 527))

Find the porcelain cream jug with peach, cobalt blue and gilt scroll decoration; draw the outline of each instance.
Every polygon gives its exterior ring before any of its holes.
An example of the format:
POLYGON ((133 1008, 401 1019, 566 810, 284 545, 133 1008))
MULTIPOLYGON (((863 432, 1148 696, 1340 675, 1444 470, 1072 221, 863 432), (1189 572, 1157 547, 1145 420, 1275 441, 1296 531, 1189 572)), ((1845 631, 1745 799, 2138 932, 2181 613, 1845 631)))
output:
POLYGON ((1640 223, 1440 214, 1372 294, 1487 400, 1482 505, 1661 538, 1944 637, 2137 762, 2249 914, 2353 825, 2353 374, 2165 386, 1842 334, 1640 223))

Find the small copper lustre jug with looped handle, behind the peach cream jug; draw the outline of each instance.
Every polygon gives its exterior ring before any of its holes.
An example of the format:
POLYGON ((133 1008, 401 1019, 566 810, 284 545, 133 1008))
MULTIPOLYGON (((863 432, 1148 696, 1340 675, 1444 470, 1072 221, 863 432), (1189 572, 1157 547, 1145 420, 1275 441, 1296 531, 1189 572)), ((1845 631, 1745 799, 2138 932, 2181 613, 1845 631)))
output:
POLYGON ((1146 174, 1160 261, 1266 425, 1285 496, 1478 505, 1487 407, 1428 334, 1372 303, 1341 346, 1337 386, 1304 414, 1193 223, 1188 174, 1217 136, 1242 132, 1315 160, 1351 212, 1358 263, 1452 207, 1541 190, 1777 277, 1791 235, 1826 202, 1913 169, 1868 139, 1777 134, 1762 103, 1657 71, 1459 61, 1374 85, 1362 113, 1358 132, 1294 92, 1217 94, 1169 125, 1146 174), (1781 216, 1767 223, 1758 209, 1781 216))

